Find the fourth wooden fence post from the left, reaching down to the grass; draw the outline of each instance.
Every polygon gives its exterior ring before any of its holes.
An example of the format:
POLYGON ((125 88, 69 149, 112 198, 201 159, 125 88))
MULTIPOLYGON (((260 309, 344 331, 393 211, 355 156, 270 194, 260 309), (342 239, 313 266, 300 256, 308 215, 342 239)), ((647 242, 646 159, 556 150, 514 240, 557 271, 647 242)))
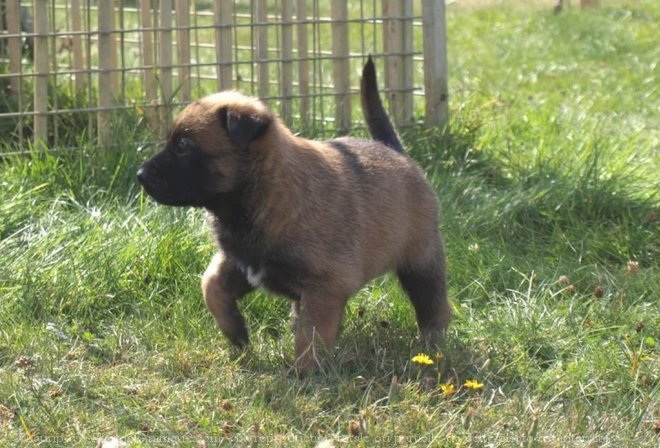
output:
POLYGON ((113 0, 98 0, 98 26, 99 26, 99 94, 96 115, 97 135, 99 146, 110 144, 111 123, 110 107, 112 106, 112 15, 114 14, 113 0))

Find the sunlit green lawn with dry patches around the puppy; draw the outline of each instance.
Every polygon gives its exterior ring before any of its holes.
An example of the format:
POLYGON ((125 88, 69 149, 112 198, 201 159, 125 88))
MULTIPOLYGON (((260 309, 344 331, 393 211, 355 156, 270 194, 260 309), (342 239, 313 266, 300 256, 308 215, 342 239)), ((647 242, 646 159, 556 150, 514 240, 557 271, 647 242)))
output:
POLYGON ((444 360, 411 363, 390 277, 349 303, 321 374, 292 374, 266 294, 233 349, 202 303, 203 213, 140 192, 152 149, 118 118, 120 151, 0 167, 0 446, 656 446, 660 5, 448 17, 452 135, 405 136, 443 208, 444 360))

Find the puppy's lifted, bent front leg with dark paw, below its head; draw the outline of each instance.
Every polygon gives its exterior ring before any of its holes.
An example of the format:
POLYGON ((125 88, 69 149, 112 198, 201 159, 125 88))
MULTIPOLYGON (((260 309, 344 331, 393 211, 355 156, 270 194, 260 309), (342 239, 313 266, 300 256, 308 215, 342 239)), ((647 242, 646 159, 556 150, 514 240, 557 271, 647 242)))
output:
POLYGON ((222 333, 240 347, 248 344, 249 337, 236 302, 252 289, 243 271, 222 253, 213 256, 202 276, 206 307, 222 333))

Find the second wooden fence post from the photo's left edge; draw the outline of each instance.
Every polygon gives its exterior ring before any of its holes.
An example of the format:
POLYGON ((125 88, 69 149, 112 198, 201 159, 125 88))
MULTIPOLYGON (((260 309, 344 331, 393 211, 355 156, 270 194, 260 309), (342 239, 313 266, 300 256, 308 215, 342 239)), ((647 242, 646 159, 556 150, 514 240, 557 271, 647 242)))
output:
POLYGON ((48 142, 48 0, 34 0, 34 142, 48 142))

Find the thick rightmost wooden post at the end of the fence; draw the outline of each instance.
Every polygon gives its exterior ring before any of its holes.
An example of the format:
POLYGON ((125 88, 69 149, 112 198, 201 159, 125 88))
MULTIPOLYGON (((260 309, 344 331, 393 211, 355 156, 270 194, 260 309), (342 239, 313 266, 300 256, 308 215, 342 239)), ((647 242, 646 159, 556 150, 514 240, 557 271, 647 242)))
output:
POLYGON ((449 127, 447 31, 444 0, 422 0, 426 124, 449 127))

